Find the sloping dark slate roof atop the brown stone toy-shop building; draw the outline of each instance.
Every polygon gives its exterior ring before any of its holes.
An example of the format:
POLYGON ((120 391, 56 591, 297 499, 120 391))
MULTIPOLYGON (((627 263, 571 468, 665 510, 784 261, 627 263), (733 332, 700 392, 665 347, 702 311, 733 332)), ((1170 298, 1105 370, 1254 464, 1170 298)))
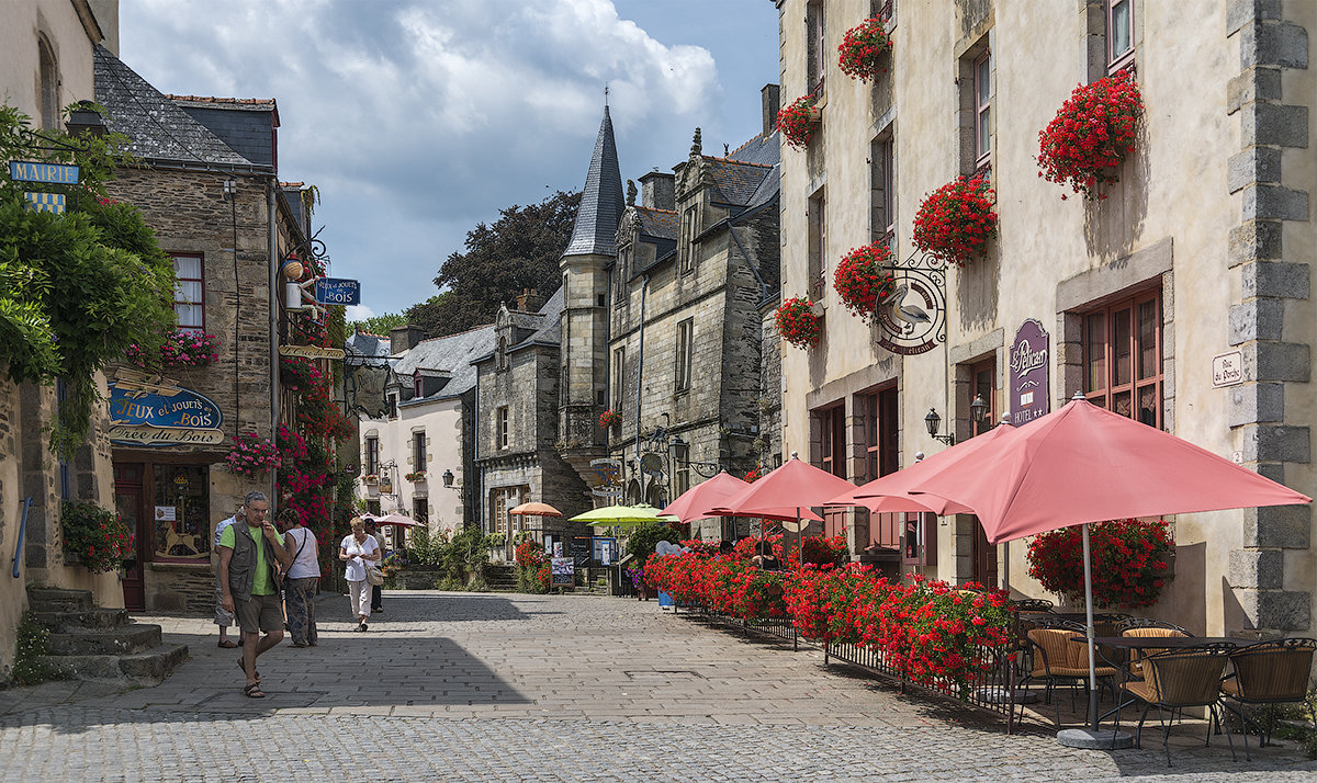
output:
POLYGON ((132 139, 128 149, 133 155, 148 162, 269 168, 233 151, 100 45, 95 51, 95 78, 96 100, 105 107, 105 125, 132 139))

